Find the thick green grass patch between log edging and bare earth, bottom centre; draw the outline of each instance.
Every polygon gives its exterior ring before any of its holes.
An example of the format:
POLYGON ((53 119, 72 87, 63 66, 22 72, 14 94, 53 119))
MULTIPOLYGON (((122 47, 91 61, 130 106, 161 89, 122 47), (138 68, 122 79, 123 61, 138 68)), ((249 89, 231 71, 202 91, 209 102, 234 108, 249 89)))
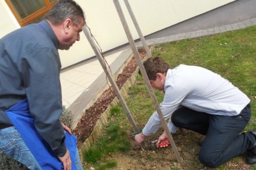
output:
POLYGON ((115 160, 107 160, 112 153, 125 152, 130 149, 131 143, 127 130, 123 128, 120 120, 124 120, 124 113, 122 107, 114 107, 111 109, 111 123, 104 128, 104 135, 101 135, 97 142, 87 151, 83 151, 83 158, 86 162, 86 169, 88 166, 93 166, 96 169, 109 169, 115 167, 117 163, 115 160), (122 112, 122 115, 117 115, 122 112), (99 163, 100 162, 100 163, 99 163))

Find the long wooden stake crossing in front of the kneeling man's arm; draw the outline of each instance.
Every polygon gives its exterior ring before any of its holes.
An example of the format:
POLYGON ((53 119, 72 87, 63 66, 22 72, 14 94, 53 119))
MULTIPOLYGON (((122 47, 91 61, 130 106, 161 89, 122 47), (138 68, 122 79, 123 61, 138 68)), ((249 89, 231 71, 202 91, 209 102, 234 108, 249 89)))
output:
POLYGON ((135 56, 135 58, 136 58, 136 60, 138 62, 141 75, 142 75, 142 77, 143 77, 143 79, 144 79, 144 81, 145 81, 145 83, 147 85, 148 92, 150 93, 150 96, 151 96, 151 98, 152 98, 152 100, 154 102, 154 105, 156 107, 157 114, 159 115, 159 118, 160 118, 161 123, 163 125, 163 128, 164 128, 164 130, 165 130, 165 132, 166 132, 166 134, 168 136, 168 139, 169 139, 169 141, 171 143, 171 146, 173 148, 175 156, 176 156, 178 162, 181 162, 181 158, 180 158, 179 152, 178 152, 177 147, 176 147, 176 145, 175 145, 175 143, 173 141, 172 134, 170 133, 170 131, 169 131, 167 125, 166 125, 166 121, 164 120, 163 114, 161 112, 161 109, 160 109, 159 104, 158 104, 157 99, 156 99, 156 95, 154 94, 154 91, 153 91, 153 89, 152 89, 152 87, 150 85, 150 81, 148 80, 147 73, 146 73, 145 68, 143 66, 143 63, 142 63, 142 61, 140 59, 140 55, 139 55, 138 49, 136 48, 134 40, 132 38, 131 32, 129 31, 129 27, 128 27, 127 22, 125 20, 124 13, 122 12, 122 8, 120 6, 120 3, 118 2, 118 0, 113 0, 113 1, 114 1, 115 6, 116 6, 116 11, 118 12, 118 15, 120 17, 122 25, 124 27, 126 36, 127 36, 128 40, 129 40, 129 43, 131 45, 132 52, 133 52, 133 54, 134 54, 134 56, 135 56))

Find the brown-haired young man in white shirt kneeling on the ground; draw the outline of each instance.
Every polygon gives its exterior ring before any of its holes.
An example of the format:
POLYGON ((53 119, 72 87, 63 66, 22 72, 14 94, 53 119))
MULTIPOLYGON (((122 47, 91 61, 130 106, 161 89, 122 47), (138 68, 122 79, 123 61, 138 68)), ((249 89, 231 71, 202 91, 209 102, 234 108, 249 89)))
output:
MULTIPOLYGON (((149 58, 143 63, 152 88, 164 91, 160 104, 168 128, 177 127, 205 135, 199 160, 205 166, 217 167, 248 151, 247 162, 256 163, 256 134, 240 134, 251 116, 250 99, 220 75, 199 66, 179 65, 170 69, 163 59, 149 58)), ((156 133, 161 121, 154 112, 140 134, 138 144, 156 133)), ((167 143, 166 132, 157 144, 167 143)))

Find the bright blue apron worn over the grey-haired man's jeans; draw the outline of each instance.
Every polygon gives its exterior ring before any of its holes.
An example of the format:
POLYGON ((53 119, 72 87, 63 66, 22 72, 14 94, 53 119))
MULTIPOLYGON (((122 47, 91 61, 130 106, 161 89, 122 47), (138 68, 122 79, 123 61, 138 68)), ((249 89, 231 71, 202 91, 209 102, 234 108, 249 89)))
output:
MULTIPOLYGON (((29 111, 28 100, 22 100, 14 105, 6 111, 6 114, 42 169, 63 169, 63 164, 54 155, 49 144, 38 134, 34 118, 31 117, 29 111)), ((73 170, 76 169, 76 136, 70 135, 68 132, 65 132, 65 135, 65 144, 70 153, 73 170)))

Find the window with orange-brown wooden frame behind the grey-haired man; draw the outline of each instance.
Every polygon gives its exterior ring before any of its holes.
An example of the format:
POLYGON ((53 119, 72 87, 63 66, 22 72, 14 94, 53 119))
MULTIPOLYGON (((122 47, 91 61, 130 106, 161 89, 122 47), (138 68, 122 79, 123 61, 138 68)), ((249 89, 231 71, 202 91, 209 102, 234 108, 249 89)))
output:
POLYGON ((20 26, 40 22, 57 0, 5 0, 20 26))

